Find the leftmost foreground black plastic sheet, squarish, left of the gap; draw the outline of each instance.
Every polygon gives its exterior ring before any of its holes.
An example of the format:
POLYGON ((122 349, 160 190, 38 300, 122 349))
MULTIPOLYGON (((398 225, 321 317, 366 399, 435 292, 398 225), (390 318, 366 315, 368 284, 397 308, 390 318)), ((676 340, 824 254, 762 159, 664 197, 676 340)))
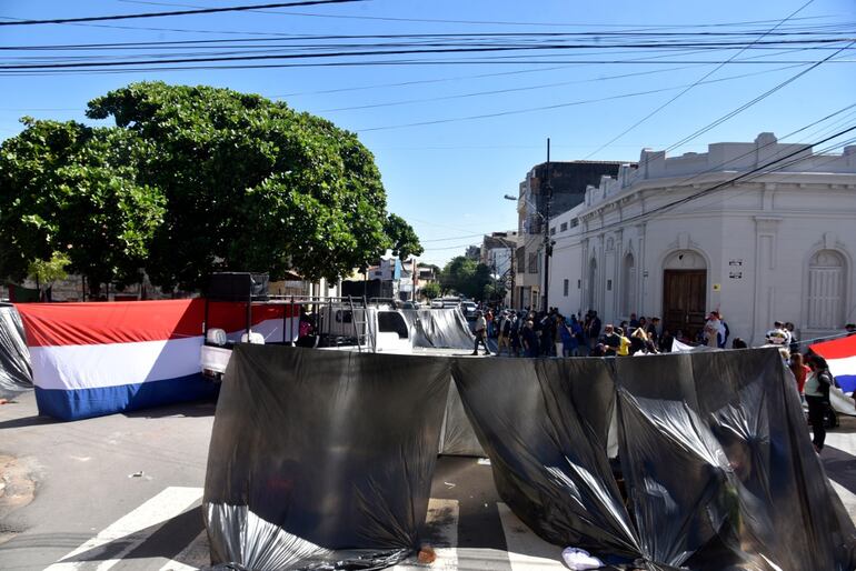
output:
POLYGON ((237 345, 205 485, 213 562, 371 569, 406 557, 448 387, 442 358, 237 345))

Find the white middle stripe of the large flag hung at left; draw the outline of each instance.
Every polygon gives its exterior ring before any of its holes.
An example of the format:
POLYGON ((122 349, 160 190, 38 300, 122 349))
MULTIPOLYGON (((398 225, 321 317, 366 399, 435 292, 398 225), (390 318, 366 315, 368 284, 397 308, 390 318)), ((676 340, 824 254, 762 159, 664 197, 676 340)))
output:
POLYGON ((94 389, 178 379, 201 371, 201 337, 169 341, 30 348, 41 389, 94 389))

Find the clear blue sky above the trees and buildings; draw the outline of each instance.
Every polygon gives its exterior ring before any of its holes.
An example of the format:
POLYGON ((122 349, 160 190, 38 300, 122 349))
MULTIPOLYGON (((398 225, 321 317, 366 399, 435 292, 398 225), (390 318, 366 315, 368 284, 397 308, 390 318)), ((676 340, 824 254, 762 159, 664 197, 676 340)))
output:
MULTIPOLYGON (((3 0, 0 1, 0 21, 156 12, 262 1, 3 0)), ((119 20, 96 26, 3 27, 0 28, 0 46, 258 39, 267 34, 604 32, 606 36, 607 32, 643 29, 655 33, 741 31, 747 33, 750 42, 754 40, 749 32, 759 40, 777 23, 780 31, 819 27, 832 30, 838 26, 836 38, 856 39, 856 2, 815 0, 805 4, 806 0, 371 0, 263 12, 119 20), (797 10, 790 20, 780 23, 797 10)), ((536 40, 529 38, 526 41, 536 40)), ((609 40, 594 37, 588 41, 597 44, 609 40)), ((408 64, 386 66, 0 74, 0 138, 19 132, 18 118, 24 114, 86 120, 87 101, 132 81, 203 83, 282 99, 295 109, 322 116, 359 134, 375 153, 387 189, 389 210, 416 228, 427 250, 422 259, 442 264, 462 253, 466 244, 477 243, 476 234, 516 228, 515 204, 502 200, 502 194, 516 194, 526 172, 545 160, 548 137, 553 160, 635 161, 643 147, 666 149, 673 146, 809 66, 798 62, 822 60, 844 46, 846 43, 839 42, 823 49, 794 51, 799 49, 797 46, 786 53, 783 49, 738 53, 739 47, 704 53, 664 53, 638 48, 607 51, 596 47, 575 51, 431 56, 431 63, 412 62, 426 59, 417 54, 408 56, 408 64), (770 62, 731 62, 720 69, 716 69, 717 63, 708 63, 727 61, 731 57, 735 61, 755 58, 754 61, 770 62), (464 63, 462 58, 479 61, 464 63), (512 61, 504 62, 498 58, 512 61), (580 59, 640 58, 659 59, 645 63, 575 63, 580 59), (714 70, 706 81, 723 81, 694 87, 639 127, 606 144, 714 70), (431 124, 414 124, 425 122, 431 124)), ((43 54, 7 50, 2 60, 7 64, 20 64, 32 60, 17 58, 43 54)), ((400 61, 401 57, 372 59, 400 61)), ((813 69, 669 154, 704 151, 708 143, 717 141, 750 141, 762 131, 783 136, 856 102, 856 49, 845 50, 835 59, 839 61, 813 69)), ((797 137, 789 141, 807 140, 797 137)))

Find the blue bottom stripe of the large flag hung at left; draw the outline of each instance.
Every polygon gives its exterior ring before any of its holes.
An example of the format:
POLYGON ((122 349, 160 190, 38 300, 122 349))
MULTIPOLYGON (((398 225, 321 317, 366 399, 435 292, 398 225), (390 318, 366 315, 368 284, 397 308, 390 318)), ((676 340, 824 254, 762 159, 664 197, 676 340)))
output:
POLYGON ((219 387, 201 373, 178 379, 94 389, 60 390, 36 387, 36 403, 39 407, 39 414, 60 420, 80 420, 176 402, 209 399, 217 395, 219 387))

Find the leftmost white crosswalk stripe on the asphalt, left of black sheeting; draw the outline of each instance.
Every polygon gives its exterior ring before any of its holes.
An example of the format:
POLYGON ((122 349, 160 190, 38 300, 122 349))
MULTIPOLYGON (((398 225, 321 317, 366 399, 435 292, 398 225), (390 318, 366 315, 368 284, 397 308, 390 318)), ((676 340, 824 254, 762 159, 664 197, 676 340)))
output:
POLYGON ((151 534, 147 531, 160 527, 165 522, 181 514, 202 498, 201 488, 167 488, 155 498, 123 515, 106 528, 101 533, 90 539, 74 551, 50 565, 46 571, 72 571, 89 562, 99 561, 98 571, 107 571, 121 559, 133 551, 151 534), (110 550, 110 559, 100 560, 102 548, 109 543, 120 543, 121 550, 110 550), (91 554, 87 552, 94 551, 91 554), (68 561, 83 554, 81 561, 68 561))

